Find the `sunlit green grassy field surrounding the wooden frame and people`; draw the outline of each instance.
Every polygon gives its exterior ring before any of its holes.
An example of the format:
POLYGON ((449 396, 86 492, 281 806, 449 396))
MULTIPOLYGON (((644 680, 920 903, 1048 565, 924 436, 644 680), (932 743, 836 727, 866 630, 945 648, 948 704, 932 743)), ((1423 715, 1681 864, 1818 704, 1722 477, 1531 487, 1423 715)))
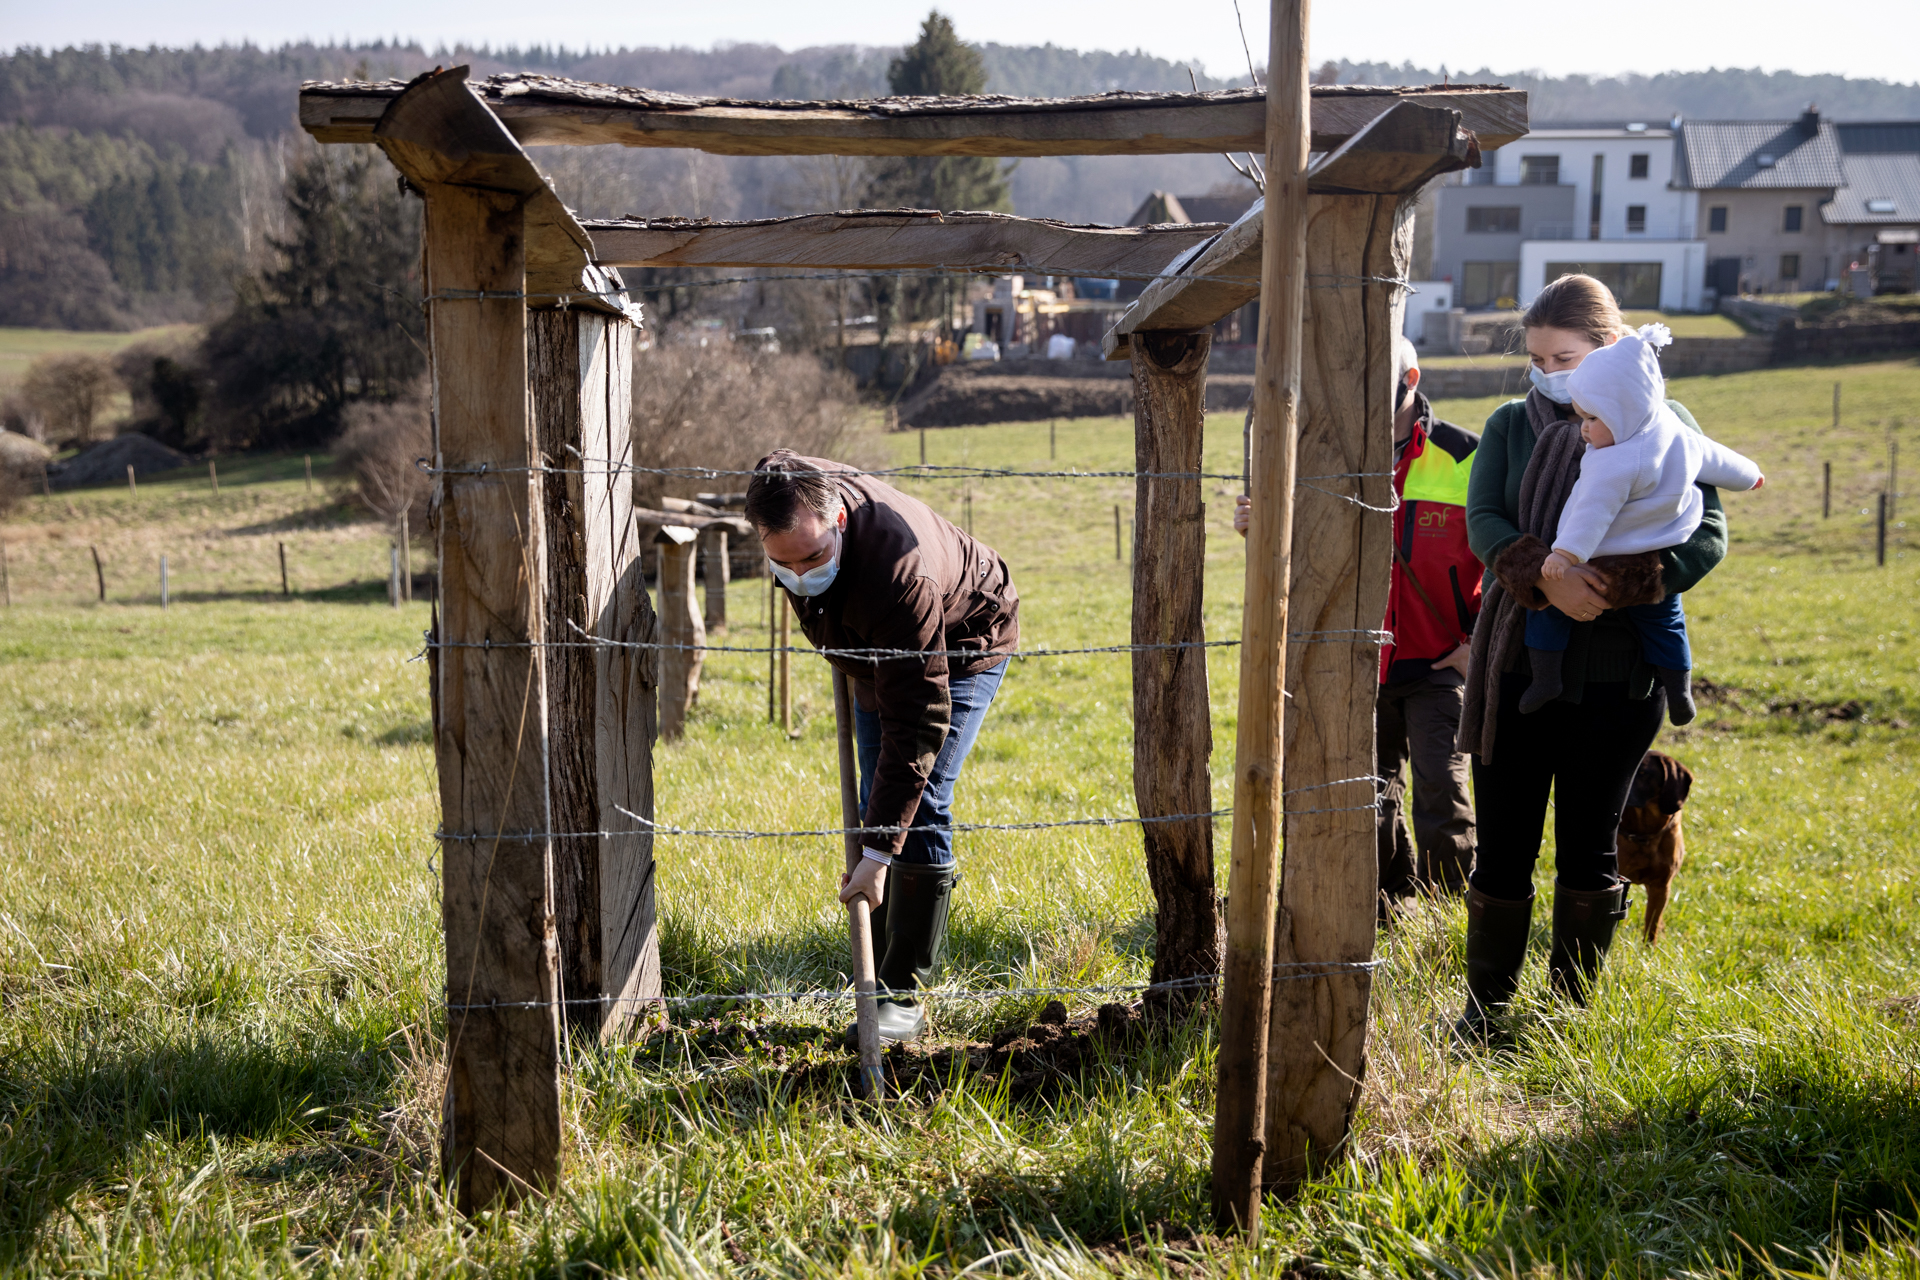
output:
MULTIPOLYGON (((1724 689, 1663 747, 1697 775, 1690 860, 1649 950, 1624 936, 1592 1009, 1523 983, 1521 1048, 1455 1057, 1461 915, 1417 910, 1386 967, 1356 1140, 1258 1247, 1208 1238, 1204 1017, 1058 1092, 956 1079, 874 1115, 797 1088, 845 1011, 695 1013, 578 1050, 566 1194, 463 1222, 434 1180, 442 983, 426 604, 392 610, 386 539, 300 459, 29 499, 0 522, 0 1267, 17 1274, 1308 1276, 1920 1274, 1920 541, 1872 560, 1885 439, 1912 455, 1920 365, 1695 378, 1674 393, 1770 484, 1730 495, 1734 553, 1690 595, 1724 689), (1830 426, 1832 382, 1847 418, 1830 426), (1905 426, 1897 426, 1901 418, 1905 426), (1820 462, 1836 512, 1818 512, 1820 462), (286 541, 294 595, 278 595, 286 541), (98 545, 109 601, 92 603, 98 545), (179 557, 159 610, 150 560, 179 557), (179 551, 173 551, 179 549, 179 551), (125 568, 121 568, 125 566, 125 568), (728 1027, 751 1027, 743 1036, 728 1027)), ((1490 405, 1444 403, 1469 426, 1490 405)), ((900 457, 918 457, 900 438, 900 457)), ((1208 468, 1238 466, 1238 415, 1208 468)), ((1046 461, 1046 426, 929 432, 935 462, 1046 461)), ((1060 464, 1131 466, 1131 424, 1060 426, 1060 464)), ((1920 459, 1916 459, 1920 464, 1920 459)), ((964 484, 920 491, 958 516, 964 484)), ((1238 629, 1229 482, 1208 487, 1212 637, 1238 629)), ((1023 645, 1125 639, 1112 510, 1129 484, 973 482, 1023 645)), ((764 639, 764 580, 733 635, 764 639)), ((1125 814, 1123 656, 1008 676, 968 819, 1125 814)), ((831 819, 826 672, 799 739, 764 664, 712 654, 659 754, 682 825, 831 819)), ((1215 651, 1215 800, 1233 651, 1215 651)), ((1225 839, 1225 825, 1219 829, 1225 839)), ((962 837, 950 975, 1139 981, 1152 894, 1125 829, 962 837)), ((662 841, 668 986, 833 984, 828 842, 662 841)), ((1544 858, 1549 865, 1549 856, 1544 858)), ((1546 889, 1549 873, 1542 877, 1546 889)), ((1544 912, 1540 913, 1544 917, 1544 912)), ((1628 921, 1630 925, 1636 921, 1628 921)), ((935 1009, 985 1036, 1037 1002, 935 1009)), ((1091 1006, 1077 1006, 1075 1013, 1091 1006)))

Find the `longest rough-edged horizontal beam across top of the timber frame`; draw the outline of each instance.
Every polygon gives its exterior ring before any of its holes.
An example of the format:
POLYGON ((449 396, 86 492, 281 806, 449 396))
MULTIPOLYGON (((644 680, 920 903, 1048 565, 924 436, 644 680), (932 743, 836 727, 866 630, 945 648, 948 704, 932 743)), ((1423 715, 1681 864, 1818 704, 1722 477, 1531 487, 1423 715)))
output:
MULTIPOLYGON (((300 125, 321 142, 372 142, 399 81, 309 81, 300 125)), ((545 75, 474 81, 524 146, 684 146, 716 155, 1183 155, 1265 148, 1258 88, 1091 98, 687 98, 545 75)), ((1332 152, 1396 102, 1459 111, 1480 146, 1526 132, 1526 94, 1505 84, 1313 86, 1313 150, 1332 152)))

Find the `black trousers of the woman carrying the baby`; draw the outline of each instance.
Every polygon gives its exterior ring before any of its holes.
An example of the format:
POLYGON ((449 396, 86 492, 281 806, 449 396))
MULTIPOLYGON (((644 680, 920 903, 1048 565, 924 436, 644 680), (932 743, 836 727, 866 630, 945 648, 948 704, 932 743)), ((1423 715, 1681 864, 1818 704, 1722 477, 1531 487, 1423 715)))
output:
POLYGON ((1532 676, 1509 672, 1500 681, 1500 727, 1494 758, 1473 758, 1473 798, 1480 825, 1473 887, 1490 898, 1519 902, 1534 890, 1534 862, 1553 794, 1553 867, 1567 889, 1599 890, 1617 881, 1613 856, 1620 808, 1640 758, 1661 731, 1667 697, 1638 702, 1626 681, 1588 681, 1582 700, 1548 702, 1521 714, 1532 676))

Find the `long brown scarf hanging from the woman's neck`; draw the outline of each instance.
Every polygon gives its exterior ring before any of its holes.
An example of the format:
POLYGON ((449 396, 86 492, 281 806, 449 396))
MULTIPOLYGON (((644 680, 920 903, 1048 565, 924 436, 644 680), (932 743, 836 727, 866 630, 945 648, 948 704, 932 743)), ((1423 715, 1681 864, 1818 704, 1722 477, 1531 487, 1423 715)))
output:
MULTIPOLYGON (((1534 434, 1534 455, 1521 476, 1521 533, 1553 545, 1559 514, 1580 478, 1580 422, 1561 418, 1540 391, 1526 393, 1526 426, 1534 434)), ((1507 670, 1526 635, 1526 604, 1494 576, 1480 601, 1480 622, 1473 628, 1467 662, 1467 704, 1459 718, 1459 748, 1494 758, 1494 729, 1500 723, 1500 674, 1507 670)))

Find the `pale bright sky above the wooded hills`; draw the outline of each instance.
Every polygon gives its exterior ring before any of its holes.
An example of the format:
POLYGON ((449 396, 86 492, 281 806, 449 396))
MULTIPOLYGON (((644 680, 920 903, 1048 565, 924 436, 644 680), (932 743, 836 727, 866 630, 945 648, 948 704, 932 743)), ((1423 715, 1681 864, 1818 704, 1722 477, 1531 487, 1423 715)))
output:
MULTIPOLYGON (((526 0, 0 0, 0 48, 19 44, 223 44, 372 40, 434 44, 693 46, 756 42, 904 44, 927 0, 708 0, 707 4, 526 4, 526 0)), ((1198 61, 1212 75, 1244 69, 1233 0, 945 0, 968 40, 1142 48, 1198 61)), ((1261 0, 1240 0, 1254 58, 1265 61, 1261 0)), ((1920 77, 1920 4, 1853 0, 1812 17, 1803 0, 1668 0, 1667 4, 1517 4, 1515 0, 1323 0, 1313 6, 1315 59, 1415 61, 1549 75, 1622 71, 1841 73, 1920 77)))

